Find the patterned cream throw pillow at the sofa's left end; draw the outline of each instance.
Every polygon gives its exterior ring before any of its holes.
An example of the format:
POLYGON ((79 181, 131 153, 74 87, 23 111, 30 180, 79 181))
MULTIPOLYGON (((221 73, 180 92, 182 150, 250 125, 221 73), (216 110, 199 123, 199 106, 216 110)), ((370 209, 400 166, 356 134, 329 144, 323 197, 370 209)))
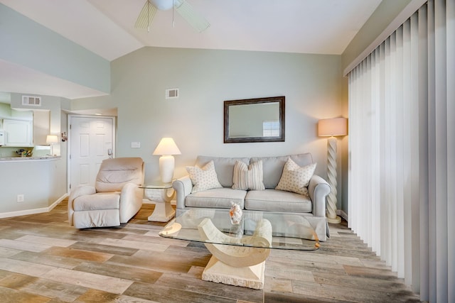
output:
POLYGON ((188 172, 188 175, 190 175, 191 182, 193 183, 191 192, 200 192, 205 189, 222 187, 220 182, 218 182, 213 160, 202 168, 187 166, 186 171, 188 172))

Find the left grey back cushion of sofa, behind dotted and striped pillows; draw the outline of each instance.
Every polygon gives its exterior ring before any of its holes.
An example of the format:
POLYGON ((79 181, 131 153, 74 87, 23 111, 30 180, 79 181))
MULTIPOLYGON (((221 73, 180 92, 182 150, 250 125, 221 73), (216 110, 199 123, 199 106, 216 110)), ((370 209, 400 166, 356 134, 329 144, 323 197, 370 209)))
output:
MULTIPOLYGON (((234 184, 232 182, 232 177, 234 175, 235 161, 242 161, 245 162, 246 165, 250 165, 250 158, 223 158, 206 155, 198 155, 198 158, 196 159, 196 165, 198 165, 198 167, 204 167, 211 160, 213 160, 213 163, 215 164, 215 171, 216 175, 218 176, 218 181, 223 187, 232 187, 232 184, 234 184)), ((281 172, 279 173, 278 180, 280 176, 281 172)))

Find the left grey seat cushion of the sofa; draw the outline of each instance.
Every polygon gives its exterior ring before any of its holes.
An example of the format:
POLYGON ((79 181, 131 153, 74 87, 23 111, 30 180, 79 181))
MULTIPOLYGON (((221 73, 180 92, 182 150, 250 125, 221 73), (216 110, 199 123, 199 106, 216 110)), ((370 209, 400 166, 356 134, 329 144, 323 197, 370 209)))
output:
POLYGON ((247 192, 245 190, 225 187, 207 189, 201 192, 188 194, 185 199, 185 206, 230 209, 232 203, 235 203, 239 204, 243 209, 245 206, 246 194, 247 192))

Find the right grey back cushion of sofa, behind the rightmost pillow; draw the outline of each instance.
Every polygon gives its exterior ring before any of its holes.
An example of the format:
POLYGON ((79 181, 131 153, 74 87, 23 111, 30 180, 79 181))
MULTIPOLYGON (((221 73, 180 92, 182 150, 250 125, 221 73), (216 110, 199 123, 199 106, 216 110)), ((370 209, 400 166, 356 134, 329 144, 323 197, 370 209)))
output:
POLYGON ((287 160, 291 158, 299 166, 313 163, 311 153, 301 153, 298 155, 282 155, 278 157, 253 157, 251 162, 262 160, 262 171, 264 172, 263 182, 265 188, 274 189, 277 187, 282 177, 283 167, 287 160))

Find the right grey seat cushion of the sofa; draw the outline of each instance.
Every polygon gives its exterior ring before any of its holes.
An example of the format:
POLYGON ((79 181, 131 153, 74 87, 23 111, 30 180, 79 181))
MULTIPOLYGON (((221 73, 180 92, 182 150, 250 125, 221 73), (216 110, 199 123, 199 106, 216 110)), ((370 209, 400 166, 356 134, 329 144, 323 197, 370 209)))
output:
POLYGON ((245 197, 245 209, 311 213, 311 199, 302 194, 276 189, 250 190, 245 197))

